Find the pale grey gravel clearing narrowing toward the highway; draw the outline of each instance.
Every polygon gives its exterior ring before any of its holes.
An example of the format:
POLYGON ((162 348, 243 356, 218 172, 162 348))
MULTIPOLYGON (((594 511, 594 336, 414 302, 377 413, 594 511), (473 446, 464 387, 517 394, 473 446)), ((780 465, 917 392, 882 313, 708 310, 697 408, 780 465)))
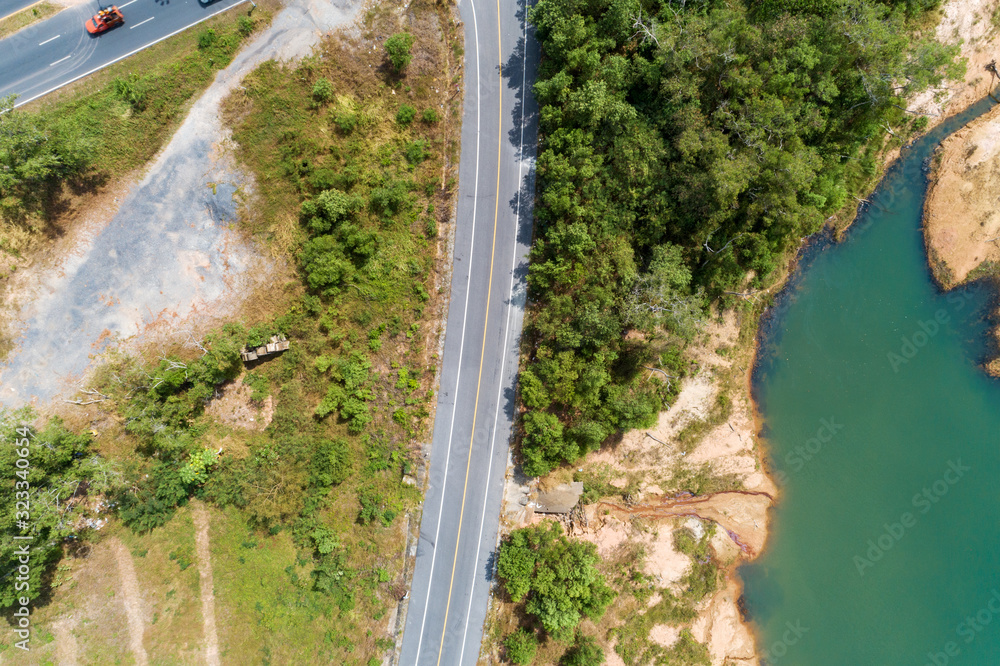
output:
POLYGON ((255 66, 307 55, 353 20, 357 0, 291 0, 191 109, 118 211, 15 299, 17 347, 0 369, 0 403, 45 403, 75 390, 115 341, 200 330, 232 316, 268 264, 230 227, 252 184, 228 157, 219 104, 255 66))

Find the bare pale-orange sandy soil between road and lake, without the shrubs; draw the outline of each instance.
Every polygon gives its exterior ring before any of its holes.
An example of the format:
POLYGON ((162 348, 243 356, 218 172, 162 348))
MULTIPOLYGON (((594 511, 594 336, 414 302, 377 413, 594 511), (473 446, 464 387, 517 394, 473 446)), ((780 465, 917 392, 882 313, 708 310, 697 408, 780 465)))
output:
MULTIPOLYGON (((741 621, 737 599, 740 588, 732 575, 735 567, 759 554, 767 541, 768 510, 776 488, 759 470, 752 406, 746 384, 726 387, 724 379, 735 370, 748 379, 748 368, 741 359, 733 360, 720 350, 733 348, 738 340, 736 316, 726 313, 721 321, 706 327, 706 337, 690 353, 700 366, 694 377, 684 380, 680 395, 669 410, 660 414, 657 424, 648 431, 626 433, 614 448, 591 454, 588 464, 606 465, 619 478, 611 483, 625 487, 641 479, 635 503, 624 505, 598 503, 584 507, 582 516, 568 521, 578 538, 596 544, 602 557, 609 557, 626 542, 641 543, 646 552, 646 573, 658 583, 673 586, 687 573, 691 560, 673 545, 673 529, 687 526, 696 533, 704 521, 718 525, 712 540, 715 555, 727 571, 725 584, 699 607, 699 617, 691 627, 694 637, 708 645, 713 665, 757 663, 754 638, 741 621), (738 364, 736 368, 733 365, 738 364), (725 423, 712 428, 690 452, 677 443, 677 434, 696 419, 707 417, 719 391, 727 391, 733 403, 725 423), (710 463, 716 474, 735 474, 743 491, 720 492, 699 497, 674 497, 664 494, 669 488, 670 470, 681 462, 710 463), (634 518, 645 525, 655 525, 652 532, 639 531, 634 518)), ((514 484, 509 484, 508 487, 514 484)), ((534 522, 536 517, 528 517, 534 522)), ((678 590, 679 591, 679 590, 678 590)), ((679 630, 657 626, 650 639, 670 645, 679 630)), ((609 664, 618 663, 617 655, 608 652, 609 664)))

